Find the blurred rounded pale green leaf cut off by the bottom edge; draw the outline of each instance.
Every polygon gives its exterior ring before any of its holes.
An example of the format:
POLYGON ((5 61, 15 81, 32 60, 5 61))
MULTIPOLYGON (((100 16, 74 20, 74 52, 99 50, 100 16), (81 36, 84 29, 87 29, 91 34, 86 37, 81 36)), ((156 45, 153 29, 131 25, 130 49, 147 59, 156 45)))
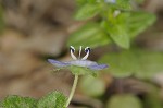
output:
POLYGON ((118 94, 110 98, 106 108, 142 108, 142 104, 131 94, 118 94))

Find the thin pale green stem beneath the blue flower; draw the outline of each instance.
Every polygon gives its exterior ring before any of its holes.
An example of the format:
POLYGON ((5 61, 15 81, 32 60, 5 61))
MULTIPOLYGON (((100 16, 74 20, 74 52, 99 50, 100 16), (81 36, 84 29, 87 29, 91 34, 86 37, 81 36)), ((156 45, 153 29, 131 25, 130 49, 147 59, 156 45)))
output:
POLYGON ((75 93, 75 89, 76 89, 76 86, 77 86, 77 82, 78 82, 78 75, 75 75, 73 87, 71 89, 71 94, 70 94, 68 99, 67 99, 67 101, 65 104, 66 108, 68 107, 68 105, 70 105, 70 103, 71 103, 71 100, 72 100, 72 98, 74 96, 74 93, 75 93))

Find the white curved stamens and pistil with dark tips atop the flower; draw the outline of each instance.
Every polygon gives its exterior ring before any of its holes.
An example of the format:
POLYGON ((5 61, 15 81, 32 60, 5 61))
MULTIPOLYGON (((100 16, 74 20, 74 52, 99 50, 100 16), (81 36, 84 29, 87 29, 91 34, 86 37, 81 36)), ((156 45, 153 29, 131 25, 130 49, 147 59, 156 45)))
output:
MULTIPOLYGON (((80 55, 82 55, 82 50, 83 50, 83 47, 80 46, 79 47, 79 53, 78 53, 78 59, 80 59, 80 55)), ((75 53, 75 48, 73 46, 70 47, 70 51, 71 51, 71 57, 74 59, 74 60, 77 60, 76 56, 74 55, 75 53)), ((82 60, 86 60, 90 53, 90 48, 89 47, 86 47, 85 48, 85 52, 86 55, 82 58, 82 60)))

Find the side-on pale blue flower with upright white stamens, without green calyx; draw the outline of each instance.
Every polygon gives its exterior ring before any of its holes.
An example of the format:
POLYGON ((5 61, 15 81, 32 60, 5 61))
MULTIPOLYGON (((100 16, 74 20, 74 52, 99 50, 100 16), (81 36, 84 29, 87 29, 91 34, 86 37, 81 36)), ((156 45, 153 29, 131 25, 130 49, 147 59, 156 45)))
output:
POLYGON ((67 62, 61 62, 61 61, 57 61, 53 59, 48 59, 48 61, 53 64, 54 67, 62 69, 62 68, 68 68, 68 67, 79 67, 79 68, 86 68, 88 70, 91 71, 98 71, 98 70, 103 70, 105 68, 108 68, 108 64, 98 64, 95 61, 90 61, 87 60, 89 53, 90 53, 90 48, 86 47, 85 48, 85 57, 80 58, 80 53, 82 53, 82 46, 79 48, 79 56, 78 58, 75 57, 74 52, 75 52, 75 48, 73 46, 70 47, 70 51, 71 51, 71 56, 74 59, 73 61, 67 61, 67 62))

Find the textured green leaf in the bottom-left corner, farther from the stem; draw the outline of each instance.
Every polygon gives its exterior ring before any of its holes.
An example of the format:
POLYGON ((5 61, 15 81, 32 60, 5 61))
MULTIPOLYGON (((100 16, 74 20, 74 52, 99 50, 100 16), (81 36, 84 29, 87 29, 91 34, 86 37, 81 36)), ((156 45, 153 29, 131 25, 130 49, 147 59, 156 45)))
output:
POLYGON ((34 98, 12 95, 0 103, 0 108, 36 108, 36 103, 34 98))

